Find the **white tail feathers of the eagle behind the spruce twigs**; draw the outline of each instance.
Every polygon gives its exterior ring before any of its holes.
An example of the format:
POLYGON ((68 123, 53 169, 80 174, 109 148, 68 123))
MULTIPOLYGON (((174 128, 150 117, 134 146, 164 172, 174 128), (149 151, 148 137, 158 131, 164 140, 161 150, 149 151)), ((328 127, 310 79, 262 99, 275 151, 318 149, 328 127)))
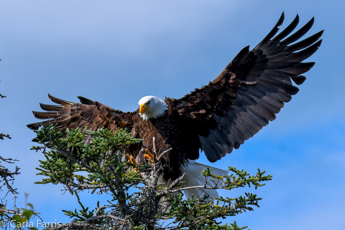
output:
MULTIPOLYGON (((195 160, 189 160, 189 162, 185 163, 185 166, 180 167, 181 174, 183 175, 184 173, 186 173, 182 179, 183 183, 181 184, 181 187, 186 188, 191 186, 203 186, 205 184, 205 177, 201 175, 201 171, 207 169, 207 167, 212 169, 211 172, 217 176, 224 176, 228 174, 228 171, 226 170, 207 166, 205 164, 195 162, 195 160)), ((215 186, 212 178, 208 178, 207 186, 215 186)), ((192 194, 194 194, 195 198, 200 198, 201 196, 203 196, 203 194, 212 198, 218 197, 218 192, 216 189, 187 189, 184 190, 184 193, 186 198, 191 198, 192 194)))

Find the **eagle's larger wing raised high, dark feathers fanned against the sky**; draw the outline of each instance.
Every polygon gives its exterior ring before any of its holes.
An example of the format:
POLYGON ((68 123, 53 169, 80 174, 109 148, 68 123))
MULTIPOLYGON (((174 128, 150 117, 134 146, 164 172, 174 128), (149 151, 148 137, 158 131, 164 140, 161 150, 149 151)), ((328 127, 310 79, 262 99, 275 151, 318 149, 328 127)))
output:
POLYGON ((274 37, 283 21, 284 12, 252 51, 249 46, 245 47, 215 80, 176 101, 180 115, 187 117, 197 130, 209 161, 215 162, 233 148, 238 149, 273 121, 284 102, 290 101, 291 95, 299 90, 292 81, 302 84, 306 78, 300 74, 314 66, 314 62, 301 61, 318 49, 321 40, 317 40, 323 31, 291 44, 312 27, 314 18, 289 36, 299 22, 297 14, 293 22, 274 37))

